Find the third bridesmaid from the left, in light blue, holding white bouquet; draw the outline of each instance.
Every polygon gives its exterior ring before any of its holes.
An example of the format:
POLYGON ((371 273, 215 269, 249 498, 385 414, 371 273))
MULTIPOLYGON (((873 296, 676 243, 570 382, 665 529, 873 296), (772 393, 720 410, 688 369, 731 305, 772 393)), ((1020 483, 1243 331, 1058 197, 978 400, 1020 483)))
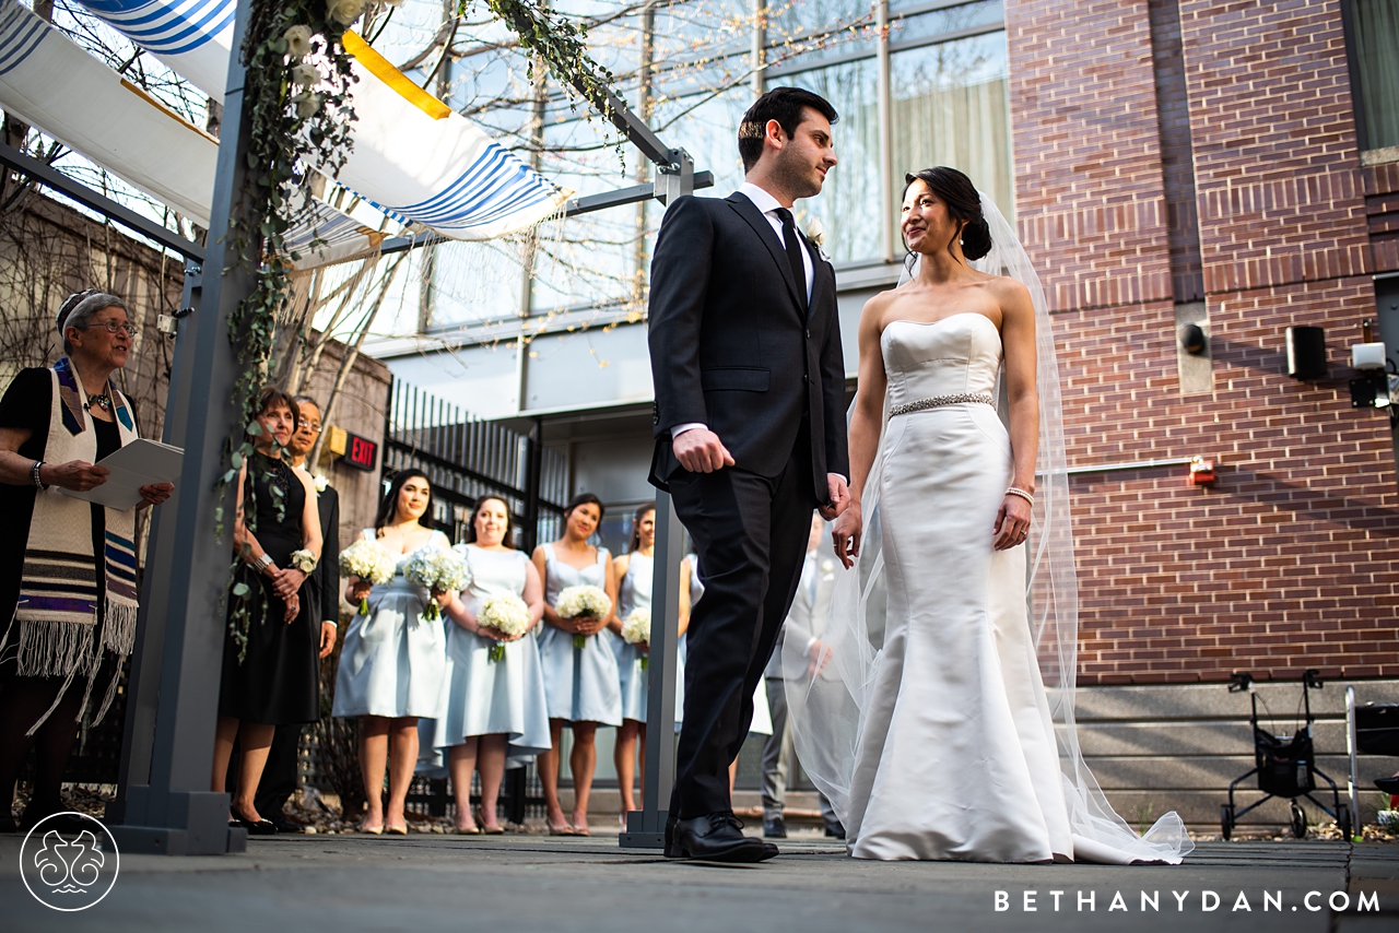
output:
POLYGON ((617 579, 611 555, 604 547, 588 543, 603 520, 603 504, 592 492, 579 492, 564 509, 564 537, 534 548, 530 558, 544 581, 544 621, 539 635, 539 655, 544 664, 544 691, 548 698, 551 748, 539 757, 539 776, 544 785, 548 831, 553 835, 589 835, 588 795, 597 767, 597 725, 621 725, 621 691, 617 656, 595 638, 617 607, 617 579), (558 594, 569 586, 599 586, 613 603, 607 618, 564 618, 555 610, 558 594), (589 636, 574 648, 574 635, 589 636), (574 775, 574 818, 564 817, 558 804, 558 767, 564 723, 574 730, 574 750, 568 768, 574 775))

